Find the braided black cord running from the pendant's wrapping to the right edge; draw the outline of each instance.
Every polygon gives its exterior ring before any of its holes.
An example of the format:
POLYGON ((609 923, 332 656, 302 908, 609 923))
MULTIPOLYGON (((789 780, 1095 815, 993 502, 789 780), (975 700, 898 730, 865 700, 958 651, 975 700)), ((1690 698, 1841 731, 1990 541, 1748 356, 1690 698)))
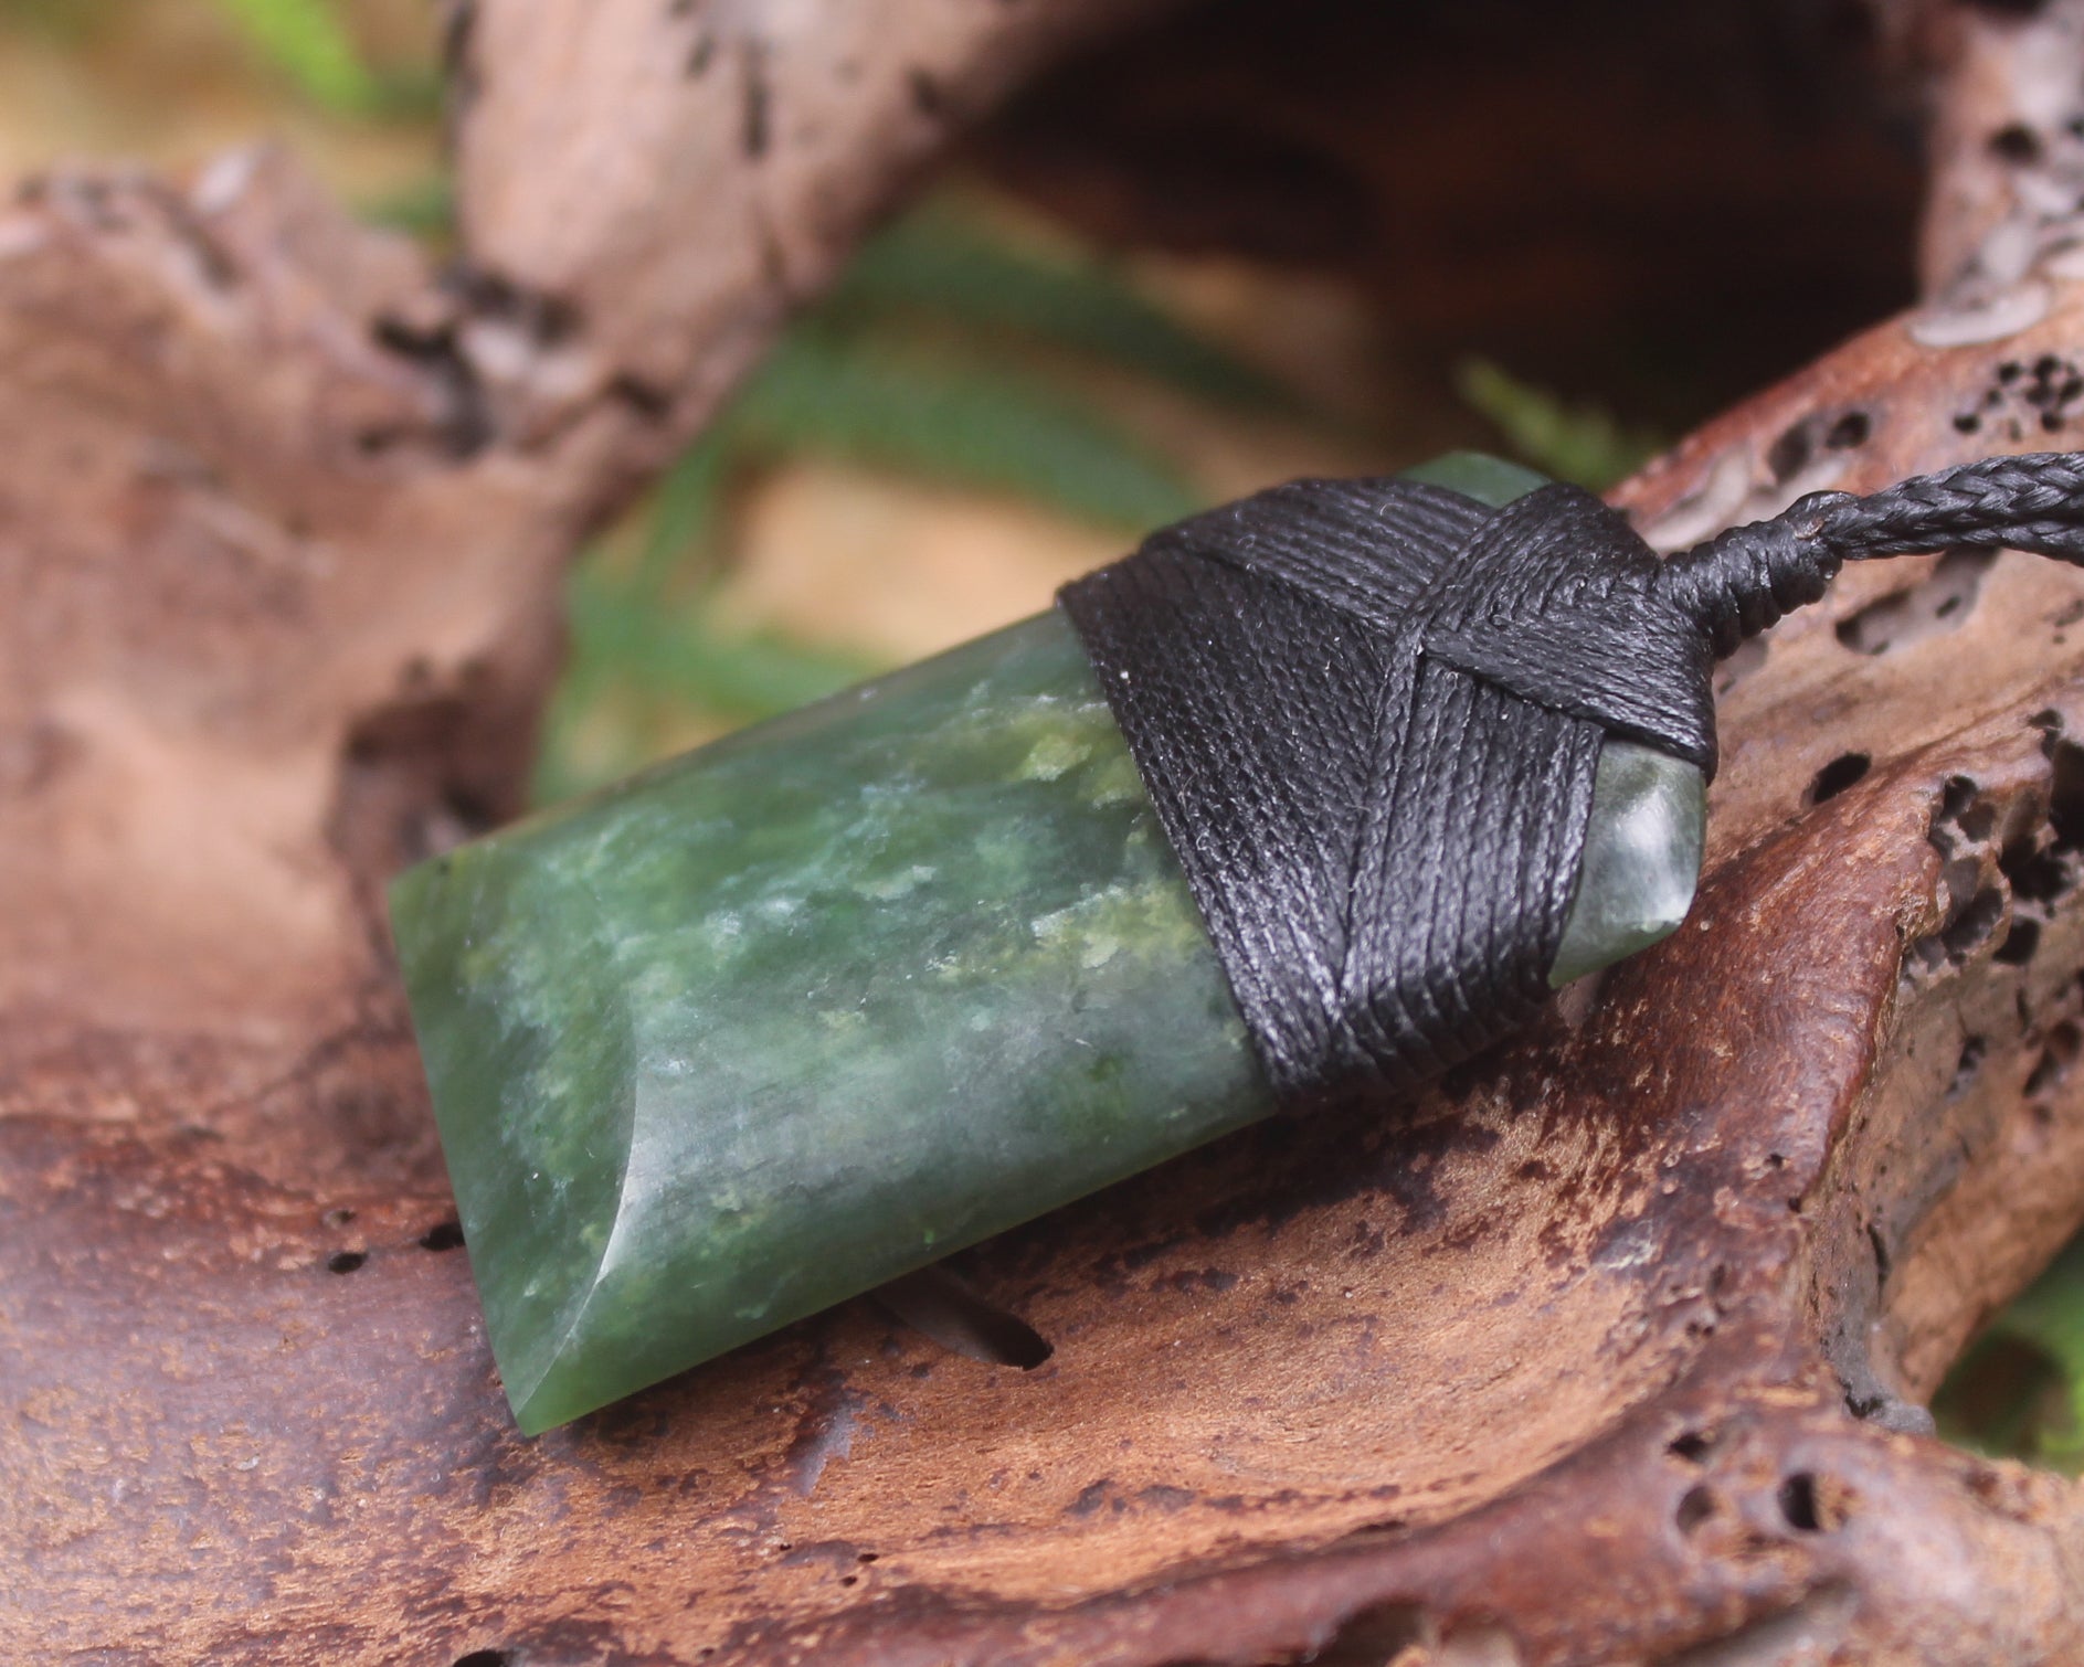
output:
POLYGON ((1671 556, 1657 583, 1721 656, 1824 596, 1842 563, 1951 548, 2084 565, 2084 452, 1984 458, 1865 498, 1811 492, 1671 556))

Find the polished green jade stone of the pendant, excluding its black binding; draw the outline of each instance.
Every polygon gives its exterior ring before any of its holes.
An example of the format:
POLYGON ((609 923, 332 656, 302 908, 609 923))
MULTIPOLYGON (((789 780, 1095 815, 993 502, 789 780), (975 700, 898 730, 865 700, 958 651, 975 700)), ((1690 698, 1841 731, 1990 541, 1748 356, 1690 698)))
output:
MULTIPOLYGON (((1692 888, 1598 873, 1582 961, 1692 888)), ((527 1434, 1273 1111, 1057 611, 423 863, 392 921, 527 1434)))

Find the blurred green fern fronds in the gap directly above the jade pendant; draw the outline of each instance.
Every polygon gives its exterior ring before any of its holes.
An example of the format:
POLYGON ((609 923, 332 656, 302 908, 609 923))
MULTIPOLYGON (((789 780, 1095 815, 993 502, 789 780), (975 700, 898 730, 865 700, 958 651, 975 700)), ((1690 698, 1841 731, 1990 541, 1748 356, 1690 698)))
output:
POLYGON ((788 711, 875 669, 846 648, 717 623, 729 488, 748 469, 838 458, 1000 492, 1125 538, 1207 506, 1177 461, 1065 375, 1080 365, 1194 400, 1292 408, 1098 260, 1009 240, 948 200, 875 238, 634 523, 573 571, 571 661, 538 798, 634 769, 661 736, 788 711))

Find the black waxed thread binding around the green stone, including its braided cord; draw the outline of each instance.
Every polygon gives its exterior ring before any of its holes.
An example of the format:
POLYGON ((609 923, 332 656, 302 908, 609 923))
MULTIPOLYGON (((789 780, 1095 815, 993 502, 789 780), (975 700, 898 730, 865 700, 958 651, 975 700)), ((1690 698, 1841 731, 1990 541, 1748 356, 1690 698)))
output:
POLYGON ((1713 775, 1715 658, 1844 561, 1953 546, 2084 561, 2084 458, 1811 494, 1669 561, 1569 486, 1490 511, 1294 481, 1059 600, 1305 1109, 1417 1086, 1540 1009, 1609 738, 1713 775))

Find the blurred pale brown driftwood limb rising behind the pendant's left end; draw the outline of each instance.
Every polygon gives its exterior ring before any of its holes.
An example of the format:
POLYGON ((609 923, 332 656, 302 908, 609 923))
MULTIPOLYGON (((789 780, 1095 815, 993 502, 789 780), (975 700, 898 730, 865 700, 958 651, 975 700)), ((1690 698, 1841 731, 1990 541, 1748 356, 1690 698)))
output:
POLYGON ((0 1104, 433 1179, 375 886, 517 808, 571 550, 963 117, 1155 8, 463 6, 444 275, 281 156, 33 183, 0 1104))

